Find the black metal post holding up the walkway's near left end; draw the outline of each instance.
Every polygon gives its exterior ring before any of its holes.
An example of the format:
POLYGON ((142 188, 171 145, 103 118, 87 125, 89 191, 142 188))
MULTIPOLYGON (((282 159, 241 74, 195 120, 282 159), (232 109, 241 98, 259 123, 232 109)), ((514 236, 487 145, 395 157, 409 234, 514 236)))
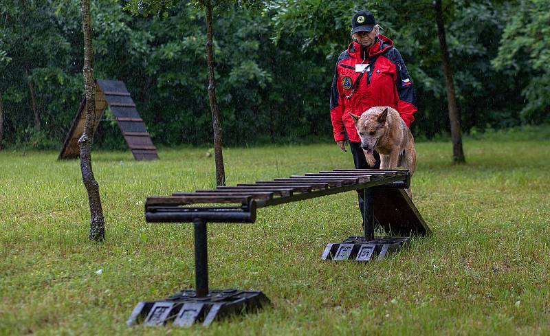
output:
POLYGON ((194 219, 195 224, 195 292, 197 298, 208 295, 208 247, 206 221, 194 219))

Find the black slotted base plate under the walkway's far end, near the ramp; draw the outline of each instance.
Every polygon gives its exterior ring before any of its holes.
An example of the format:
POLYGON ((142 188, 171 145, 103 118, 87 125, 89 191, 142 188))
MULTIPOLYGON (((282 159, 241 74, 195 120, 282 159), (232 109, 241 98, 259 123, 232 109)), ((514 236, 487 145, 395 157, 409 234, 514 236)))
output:
POLYGON ((322 260, 382 260, 388 254, 395 253, 410 242, 409 237, 374 237, 366 240, 364 236, 350 236, 342 243, 329 243, 322 252, 322 260))

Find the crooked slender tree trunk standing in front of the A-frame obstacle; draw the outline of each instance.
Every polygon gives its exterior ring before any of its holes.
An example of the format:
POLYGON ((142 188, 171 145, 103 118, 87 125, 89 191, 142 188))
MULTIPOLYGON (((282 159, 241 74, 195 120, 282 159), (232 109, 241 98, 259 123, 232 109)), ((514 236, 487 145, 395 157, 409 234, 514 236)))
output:
POLYGON ((101 208, 99 185, 91 169, 91 142, 94 139, 96 123, 96 81, 94 80, 94 51, 91 47, 91 19, 90 0, 82 0, 82 27, 84 33, 84 88, 86 97, 86 122, 84 132, 78 139, 80 147, 80 170, 90 207, 90 235, 91 240, 104 240, 105 220, 101 208))

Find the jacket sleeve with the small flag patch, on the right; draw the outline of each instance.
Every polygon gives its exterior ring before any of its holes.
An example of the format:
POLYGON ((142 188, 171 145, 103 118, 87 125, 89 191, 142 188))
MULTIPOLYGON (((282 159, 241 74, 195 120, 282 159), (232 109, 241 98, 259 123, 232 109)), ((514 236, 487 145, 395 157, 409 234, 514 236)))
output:
POLYGON ((395 49, 395 68, 397 72, 397 80, 395 81, 397 111, 407 127, 410 127, 410 124, 415 120, 414 114, 418 110, 416 106, 416 93, 403 58, 397 49, 395 49))

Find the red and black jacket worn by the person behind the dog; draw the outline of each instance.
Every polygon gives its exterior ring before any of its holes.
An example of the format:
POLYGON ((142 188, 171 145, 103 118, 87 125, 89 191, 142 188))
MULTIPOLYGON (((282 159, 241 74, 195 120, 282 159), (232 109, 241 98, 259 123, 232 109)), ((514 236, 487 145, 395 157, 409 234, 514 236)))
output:
POLYGON ((361 141, 348 112, 362 115, 371 107, 388 106, 399 112, 407 126, 415 120, 415 89, 393 41, 379 35, 377 42, 364 54, 367 56, 363 62, 361 45, 353 41, 338 57, 331 87, 335 141, 344 140, 346 134, 351 142, 361 141), (356 71, 355 65, 361 64, 369 64, 369 67, 364 72, 356 71))

